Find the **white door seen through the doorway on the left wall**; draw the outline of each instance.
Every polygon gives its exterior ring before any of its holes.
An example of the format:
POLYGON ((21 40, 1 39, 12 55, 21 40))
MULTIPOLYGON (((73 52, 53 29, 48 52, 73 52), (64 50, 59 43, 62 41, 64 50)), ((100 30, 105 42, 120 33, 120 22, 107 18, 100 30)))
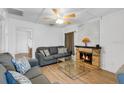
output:
POLYGON ((29 31, 17 31, 16 33, 16 51, 17 53, 28 53, 29 31))

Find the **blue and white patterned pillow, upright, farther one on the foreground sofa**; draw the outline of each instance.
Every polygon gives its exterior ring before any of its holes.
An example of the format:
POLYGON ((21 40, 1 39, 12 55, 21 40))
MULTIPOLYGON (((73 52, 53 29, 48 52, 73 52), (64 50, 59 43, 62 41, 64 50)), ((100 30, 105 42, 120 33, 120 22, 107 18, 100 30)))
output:
POLYGON ((25 57, 22 59, 13 61, 13 63, 16 67, 16 70, 22 74, 25 74, 29 69, 31 69, 29 62, 25 57))

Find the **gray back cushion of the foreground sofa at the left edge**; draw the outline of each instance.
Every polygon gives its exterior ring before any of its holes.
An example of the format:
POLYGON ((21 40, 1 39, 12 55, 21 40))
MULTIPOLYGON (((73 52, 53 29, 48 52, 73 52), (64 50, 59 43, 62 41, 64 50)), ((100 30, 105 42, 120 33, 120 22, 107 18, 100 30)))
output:
POLYGON ((12 56, 9 53, 0 54, 0 64, 2 64, 7 70, 15 71, 15 67, 11 61, 12 61, 12 56))

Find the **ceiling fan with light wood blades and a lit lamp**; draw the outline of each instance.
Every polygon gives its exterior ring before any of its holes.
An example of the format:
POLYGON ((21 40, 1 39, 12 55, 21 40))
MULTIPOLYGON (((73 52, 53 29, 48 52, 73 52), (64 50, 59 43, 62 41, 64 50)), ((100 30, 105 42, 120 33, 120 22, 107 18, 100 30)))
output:
POLYGON ((62 16, 59 8, 53 8, 51 9, 51 12, 53 13, 54 17, 45 17, 44 19, 55 19, 56 24, 72 24, 72 19, 76 17, 76 13, 74 12, 62 16))

